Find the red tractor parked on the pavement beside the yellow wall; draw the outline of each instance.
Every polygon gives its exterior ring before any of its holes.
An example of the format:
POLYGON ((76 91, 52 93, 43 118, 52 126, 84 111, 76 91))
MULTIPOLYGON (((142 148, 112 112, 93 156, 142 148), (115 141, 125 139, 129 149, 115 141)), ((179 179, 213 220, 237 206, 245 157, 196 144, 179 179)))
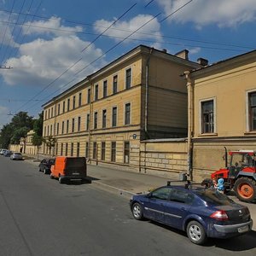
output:
MULTIPOLYGON (((225 148, 225 147, 224 147, 225 148)), ((224 189, 234 189, 240 201, 252 202, 256 200, 256 151, 230 151, 228 165, 227 149, 225 148, 225 168, 213 172, 211 178, 224 178, 224 189)))

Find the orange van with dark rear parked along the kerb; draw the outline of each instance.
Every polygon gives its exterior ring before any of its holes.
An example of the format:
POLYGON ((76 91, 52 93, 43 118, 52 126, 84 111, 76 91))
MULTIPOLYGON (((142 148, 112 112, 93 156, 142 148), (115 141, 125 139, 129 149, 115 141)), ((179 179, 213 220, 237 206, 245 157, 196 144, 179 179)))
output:
POLYGON ((85 157, 57 156, 55 163, 50 167, 51 178, 58 178, 59 183, 65 181, 84 181, 87 177, 85 157))

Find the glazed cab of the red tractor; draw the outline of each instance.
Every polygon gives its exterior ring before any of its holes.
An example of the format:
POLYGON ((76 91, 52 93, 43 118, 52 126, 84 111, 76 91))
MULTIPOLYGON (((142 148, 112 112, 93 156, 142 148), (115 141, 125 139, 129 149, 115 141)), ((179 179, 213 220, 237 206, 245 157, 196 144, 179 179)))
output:
POLYGON ((241 172, 255 172, 254 150, 230 151, 229 178, 236 178, 241 172))

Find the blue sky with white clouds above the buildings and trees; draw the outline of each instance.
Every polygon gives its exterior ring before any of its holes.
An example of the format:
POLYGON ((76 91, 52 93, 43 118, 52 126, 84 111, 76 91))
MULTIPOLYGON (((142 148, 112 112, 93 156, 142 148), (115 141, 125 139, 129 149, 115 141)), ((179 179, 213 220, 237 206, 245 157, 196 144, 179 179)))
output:
POLYGON ((0 0, 0 129, 139 44, 210 63, 256 49, 255 19, 255 0, 0 0))

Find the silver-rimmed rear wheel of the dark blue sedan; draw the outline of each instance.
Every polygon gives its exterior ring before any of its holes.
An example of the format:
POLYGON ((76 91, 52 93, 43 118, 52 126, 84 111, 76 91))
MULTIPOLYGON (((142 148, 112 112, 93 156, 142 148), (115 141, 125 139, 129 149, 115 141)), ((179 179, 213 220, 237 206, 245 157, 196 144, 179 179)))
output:
POLYGON ((206 231, 203 226, 195 220, 189 222, 187 235, 189 236, 189 240, 195 244, 203 244, 207 241, 206 231))

